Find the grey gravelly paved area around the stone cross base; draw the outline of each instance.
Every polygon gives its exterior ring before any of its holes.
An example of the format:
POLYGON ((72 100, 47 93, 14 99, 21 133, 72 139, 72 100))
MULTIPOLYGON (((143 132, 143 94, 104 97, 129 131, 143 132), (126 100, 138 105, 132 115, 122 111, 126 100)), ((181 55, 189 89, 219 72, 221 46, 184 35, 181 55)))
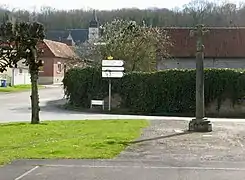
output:
POLYGON ((212 132, 188 133, 187 121, 151 121, 139 138, 143 142, 128 147, 118 158, 245 162, 245 123, 212 123, 212 132))

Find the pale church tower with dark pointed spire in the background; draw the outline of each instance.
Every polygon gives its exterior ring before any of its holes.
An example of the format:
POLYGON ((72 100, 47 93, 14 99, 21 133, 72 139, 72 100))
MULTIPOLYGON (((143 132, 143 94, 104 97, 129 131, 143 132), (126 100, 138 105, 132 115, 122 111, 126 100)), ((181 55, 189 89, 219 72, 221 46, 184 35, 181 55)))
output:
POLYGON ((99 22, 95 10, 93 10, 93 19, 89 22, 88 31, 88 39, 90 42, 99 39, 99 22))

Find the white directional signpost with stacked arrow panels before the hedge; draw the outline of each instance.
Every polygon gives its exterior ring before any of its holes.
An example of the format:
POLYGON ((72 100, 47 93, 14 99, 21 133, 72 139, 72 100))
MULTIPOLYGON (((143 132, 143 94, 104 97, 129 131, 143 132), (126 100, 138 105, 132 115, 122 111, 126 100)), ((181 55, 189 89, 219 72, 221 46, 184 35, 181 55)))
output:
POLYGON ((108 57, 110 60, 102 60, 102 77, 109 79, 109 108, 111 111, 111 79, 122 78, 124 75, 124 61, 112 60, 113 57, 108 57))

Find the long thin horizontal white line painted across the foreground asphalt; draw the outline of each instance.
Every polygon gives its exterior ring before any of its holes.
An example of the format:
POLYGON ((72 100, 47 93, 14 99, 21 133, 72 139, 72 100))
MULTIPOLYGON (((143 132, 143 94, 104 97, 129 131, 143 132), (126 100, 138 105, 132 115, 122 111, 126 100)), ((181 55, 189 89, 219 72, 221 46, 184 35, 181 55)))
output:
POLYGON ((111 166, 111 165, 52 165, 46 164, 45 167, 70 167, 70 168, 144 168, 144 169, 178 169, 178 170, 213 170, 213 171, 245 171, 245 168, 215 168, 215 167, 171 167, 171 166, 111 166))

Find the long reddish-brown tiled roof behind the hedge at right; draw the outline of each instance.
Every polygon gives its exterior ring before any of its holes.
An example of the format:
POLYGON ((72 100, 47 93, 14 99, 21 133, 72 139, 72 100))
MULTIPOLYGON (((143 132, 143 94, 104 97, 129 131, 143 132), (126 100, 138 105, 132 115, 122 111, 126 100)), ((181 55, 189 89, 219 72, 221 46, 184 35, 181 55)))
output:
MULTIPOLYGON (((173 47, 172 57, 195 57, 196 37, 190 36, 191 28, 164 28, 170 36, 173 47)), ((204 36, 205 57, 242 58, 245 57, 245 28, 210 27, 204 36)))

